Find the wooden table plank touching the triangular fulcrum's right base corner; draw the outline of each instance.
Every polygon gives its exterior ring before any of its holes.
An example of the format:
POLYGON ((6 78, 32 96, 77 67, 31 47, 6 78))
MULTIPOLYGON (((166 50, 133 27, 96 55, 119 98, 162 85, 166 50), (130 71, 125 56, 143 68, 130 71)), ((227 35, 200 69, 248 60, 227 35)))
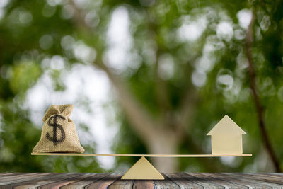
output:
POLYGON ((176 185, 179 185, 180 188, 187 188, 187 189, 203 188, 202 185, 198 185, 197 183, 184 179, 182 176, 179 175, 179 173, 165 173, 165 175, 173 183, 175 183, 176 185))

